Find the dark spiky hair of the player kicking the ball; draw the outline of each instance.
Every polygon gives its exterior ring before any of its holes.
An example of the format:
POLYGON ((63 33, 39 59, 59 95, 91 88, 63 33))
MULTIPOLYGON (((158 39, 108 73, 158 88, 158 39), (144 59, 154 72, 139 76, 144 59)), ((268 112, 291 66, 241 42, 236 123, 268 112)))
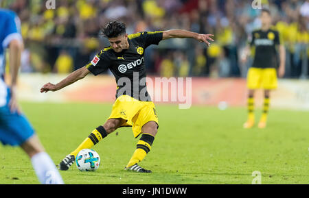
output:
POLYGON ((126 24, 120 21, 111 21, 102 29, 102 32, 107 38, 115 38, 126 34, 126 24))

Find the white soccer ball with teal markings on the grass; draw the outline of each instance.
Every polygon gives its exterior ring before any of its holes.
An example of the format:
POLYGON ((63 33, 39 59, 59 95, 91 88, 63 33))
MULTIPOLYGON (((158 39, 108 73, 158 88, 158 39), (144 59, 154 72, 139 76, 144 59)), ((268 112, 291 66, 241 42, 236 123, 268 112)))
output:
POLYGON ((95 171, 100 166, 100 156, 92 149, 82 149, 76 156, 76 166, 80 171, 95 171))

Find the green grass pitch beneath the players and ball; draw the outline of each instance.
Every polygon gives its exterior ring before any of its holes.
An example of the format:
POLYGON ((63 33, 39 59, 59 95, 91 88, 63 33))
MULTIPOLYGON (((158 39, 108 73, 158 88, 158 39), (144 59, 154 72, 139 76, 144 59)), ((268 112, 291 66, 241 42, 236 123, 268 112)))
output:
MULTIPOLYGON (((106 121, 112 105, 23 102, 21 107, 58 164, 106 121)), ((81 172, 73 164, 60 172, 65 183, 251 184, 253 171, 260 171, 262 184, 309 184, 308 112, 271 109, 266 129, 242 129, 245 108, 157 105, 157 114, 159 132, 140 163, 153 173, 124 171, 138 140, 124 127, 93 147, 101 157, 98 171, 81 172)), ((38 184, 21 149, 0 145, 0 184, 38 184)))

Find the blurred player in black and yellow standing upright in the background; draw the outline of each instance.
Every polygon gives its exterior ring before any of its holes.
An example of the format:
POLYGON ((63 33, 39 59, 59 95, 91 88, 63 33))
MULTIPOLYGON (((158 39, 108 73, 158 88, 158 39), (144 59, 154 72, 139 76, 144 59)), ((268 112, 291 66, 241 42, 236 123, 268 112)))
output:
MULTIPOLYGON (((285 49, 279 38, 279 32, 271 27, 271 12, 262 9, 260 14, 261 29, 251 34, 251 47, 255 47, 253 65, 247 74, 248 95, 248 119, 244 128, 251 128, 255 123, 254 116, 254 93, 258 88, 264 89, 263 112, 258 123, 259 128, 266 127, 268 108, 270 104, 270 92, 277 88, 277 72, 279 77, 284 76, 285 71, 285 49), (279 68, 277 70, 277 49, 279 49, 279 68)), ((250 54, 247 46, 242 54, 242 62, 246 62, 250 54)))

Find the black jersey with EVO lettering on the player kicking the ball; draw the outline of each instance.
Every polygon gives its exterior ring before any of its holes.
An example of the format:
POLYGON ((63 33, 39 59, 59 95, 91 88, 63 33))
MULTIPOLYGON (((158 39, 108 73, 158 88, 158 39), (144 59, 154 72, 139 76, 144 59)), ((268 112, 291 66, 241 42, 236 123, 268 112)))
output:
POLYGON ((139 32, 128 35, 129 48, 116 53, 111 47, 101 50, 86 67, 93 75, 110 69, 117 83, 116 99, 129 95, 140 101, 151 101, 146 88, 144 52, 152 45, 158 45, 163 32, 139 32))

